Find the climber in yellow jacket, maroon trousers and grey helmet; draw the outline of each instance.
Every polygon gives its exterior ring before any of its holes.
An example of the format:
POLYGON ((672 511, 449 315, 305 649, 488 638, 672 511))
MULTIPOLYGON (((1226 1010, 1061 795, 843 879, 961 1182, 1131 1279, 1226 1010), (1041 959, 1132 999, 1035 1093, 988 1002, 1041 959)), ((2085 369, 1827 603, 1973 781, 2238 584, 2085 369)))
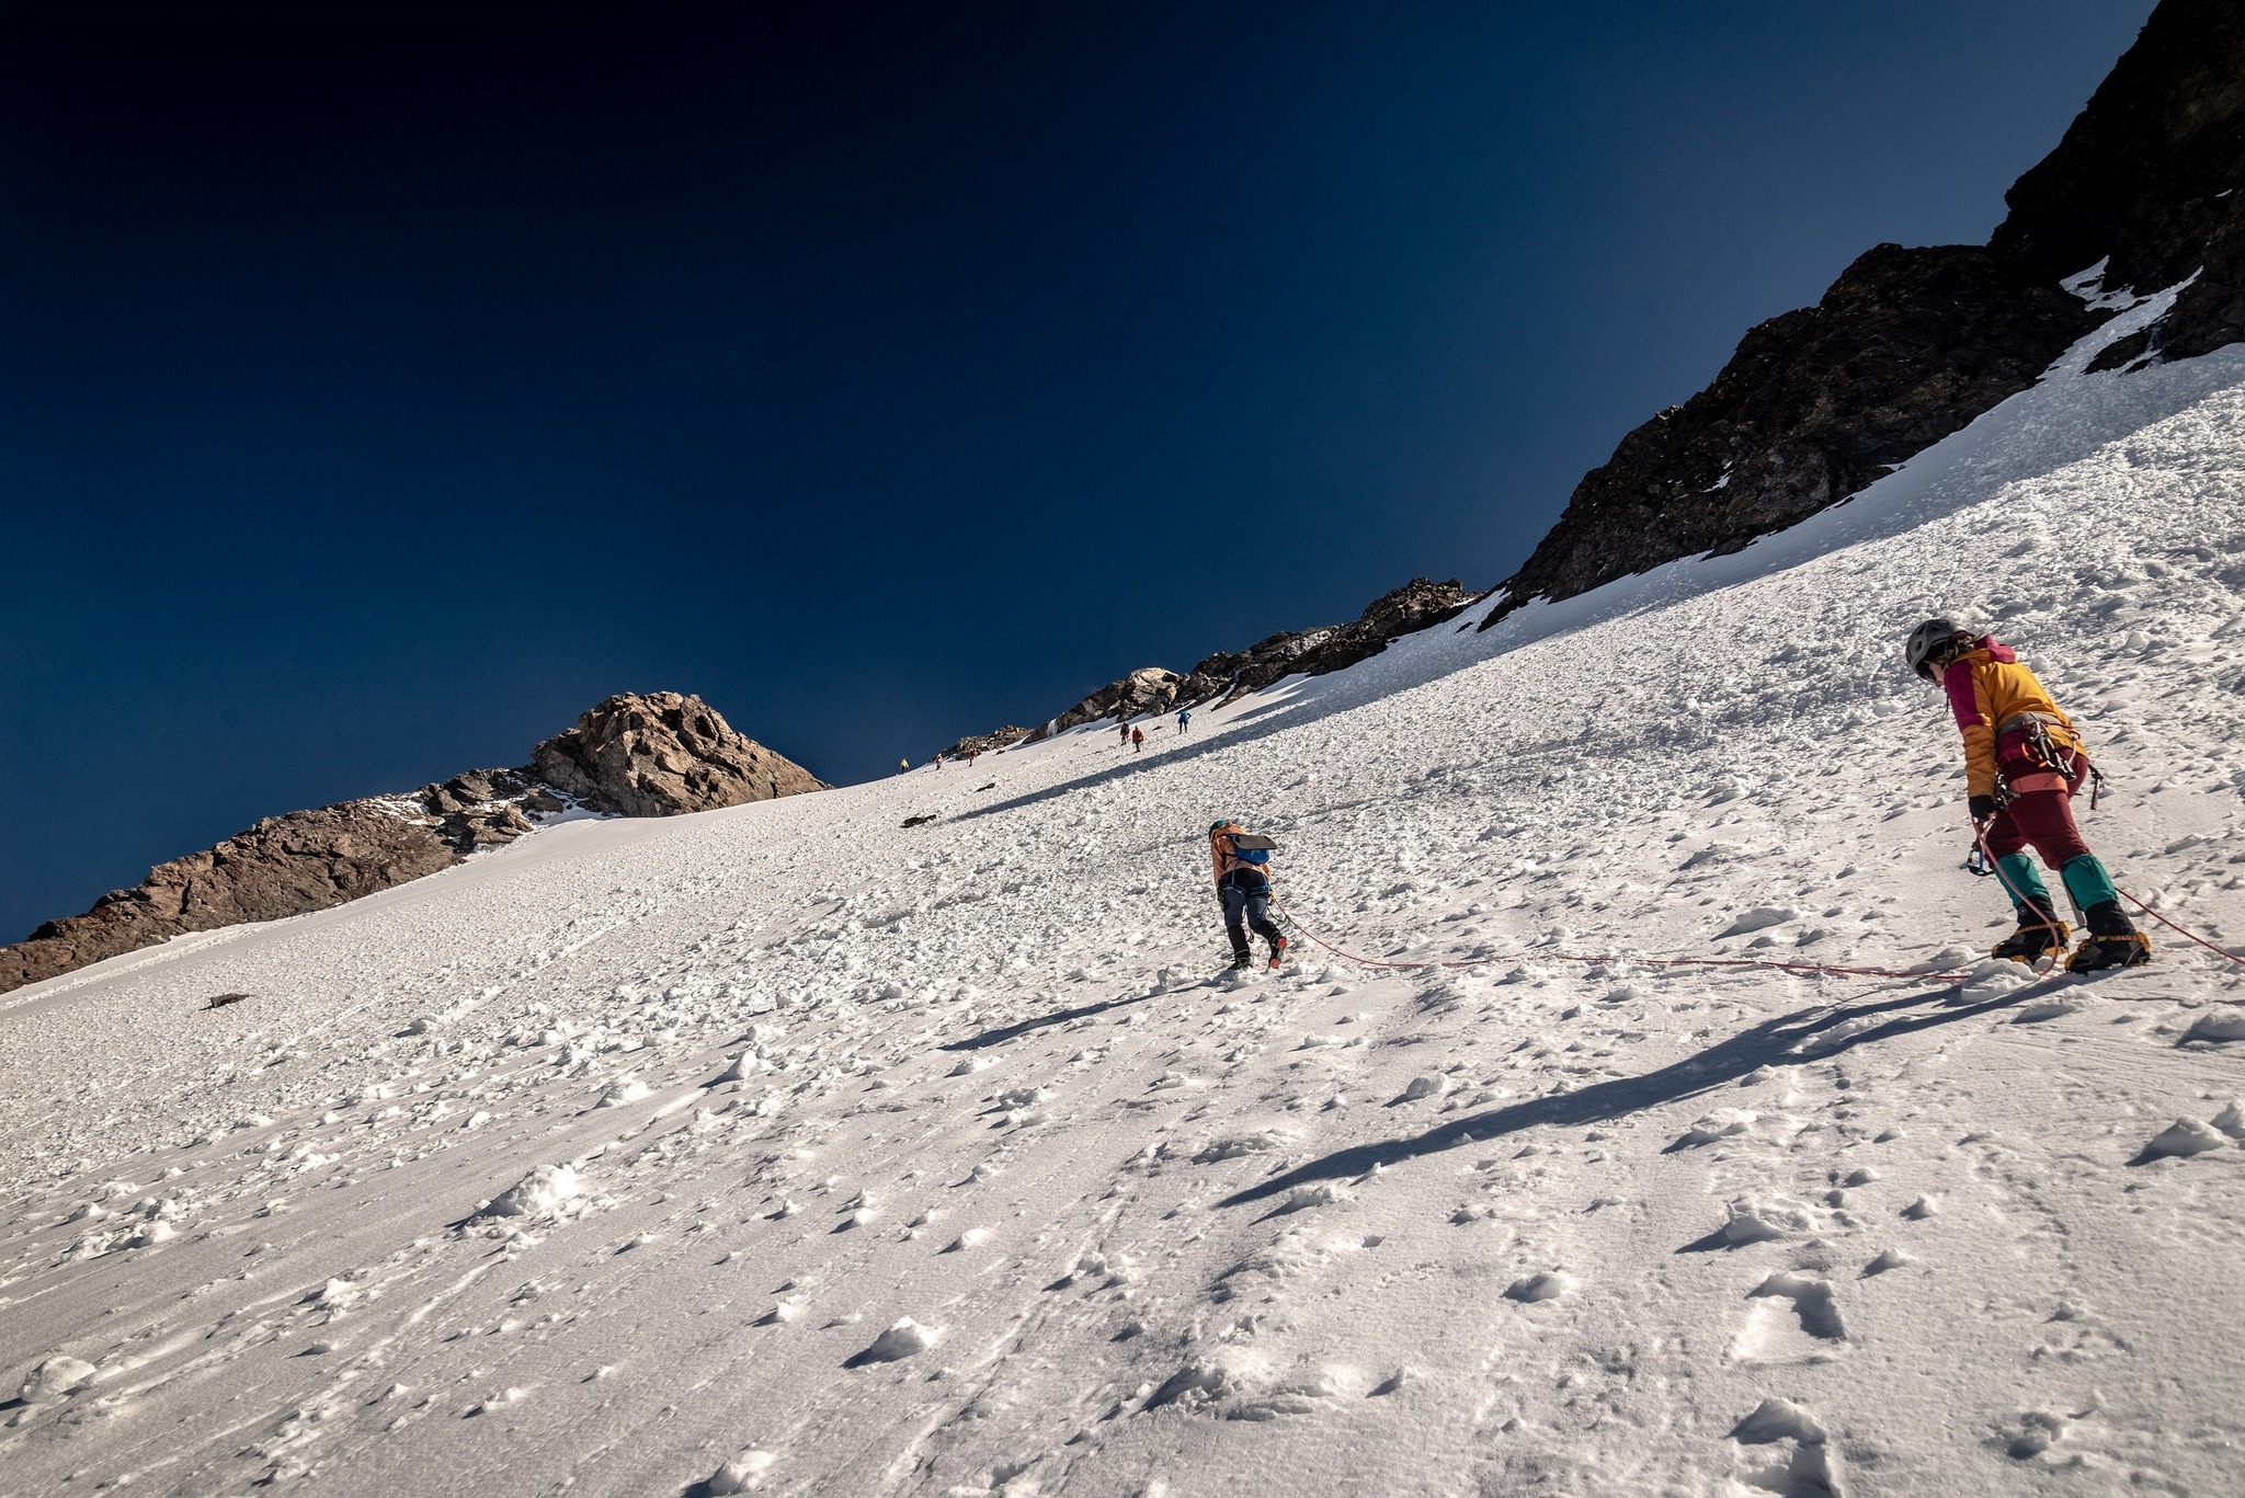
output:
POLYGON ((1949 692, 1949 710, 1964 734, 1973 838, 2018 907, 2018 930, 1998 941, 1994 954, 2034 966, 2065 950, 2065 923, 2034 860, 2020 851, 2034 844, 2088 923, 2065 968, 2099 972, 2151 961, 2151 939, 2119 907, 2113 876, 2074 826, 2074 786, 2090 773, 2074 721, 2059 712, 2012 647, 1960 629, 1955 620, 1913 629, 1904 658, 1949 692))

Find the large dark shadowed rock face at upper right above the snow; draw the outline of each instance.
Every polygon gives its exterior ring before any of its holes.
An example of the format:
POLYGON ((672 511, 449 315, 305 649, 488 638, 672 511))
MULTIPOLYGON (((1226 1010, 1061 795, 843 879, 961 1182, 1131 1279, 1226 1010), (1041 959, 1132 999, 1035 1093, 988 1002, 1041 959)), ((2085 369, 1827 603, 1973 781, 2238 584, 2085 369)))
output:
POLYGON ((1980 245, 1879 245, 1814 308, 1753 328, 1715 382, 1583 476, 1495 622, 1834 505, 2027 389, 2115 292, 2193 281, 2092 364, 2245 339, 2245 18, 2164 0, 1980 245), (2101 276, 2074 281, 2101 265, 2101 276))

